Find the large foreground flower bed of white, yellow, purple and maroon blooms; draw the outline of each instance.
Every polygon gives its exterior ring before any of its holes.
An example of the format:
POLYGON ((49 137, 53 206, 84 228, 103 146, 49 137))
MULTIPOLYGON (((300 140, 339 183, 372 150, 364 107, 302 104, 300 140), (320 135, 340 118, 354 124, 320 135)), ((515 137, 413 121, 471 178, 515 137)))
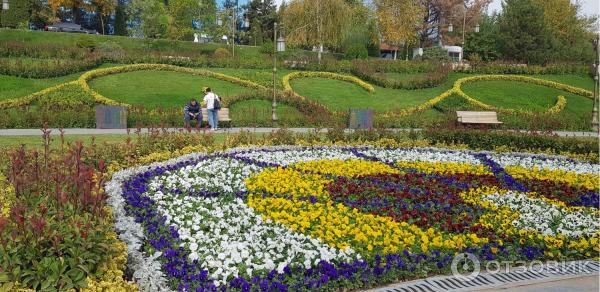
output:
POLYGON ((144 290, 357 289, 448 273, 459 252, 597 254, 599 167, 435 148, 234 149, 121 171, 106 190, 144 290), (553 171, 571 179, 549 183, 553 171))

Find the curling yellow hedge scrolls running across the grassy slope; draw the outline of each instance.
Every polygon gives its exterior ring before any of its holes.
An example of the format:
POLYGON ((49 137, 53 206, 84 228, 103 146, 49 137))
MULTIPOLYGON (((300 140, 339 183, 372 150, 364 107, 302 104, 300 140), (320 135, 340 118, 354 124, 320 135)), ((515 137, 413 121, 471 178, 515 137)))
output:
MULTIPOLYGON (((101 68, 101 69, 95 69, 95 70, 88 71, 88 72, 82 74, 79 77, 79 79, 77 79, 75 81, 70 81, 70 82, 62 83, 62 84, 59 84, 59 85, 56 85, 53 87, 49 87, 49 88, 32 93, 32 94, 27 95, 22 98, 13 98, 13 99, 7 99, 4 101, 0 101, 0 109, 22 107, 22 106, 29 105, 30 103, 37 100, 41 96, 44 96, 46 94, 60 90, 65 86, 73 85, 73 84, 77 84, 77 85, 81 86, 82 89, 84 89, 86 92, 90 93, 91 96, 93 97, 94 102, 96 102, 96 103, 105 104, 105 105, 128 106, 127 104, 119 103, 113 99, 107 98, 107 97, 99 94, 98 92, 94 91, 93 89, 90 88, 88 81, 90 81, 94 78, 98 78, 98 77, 102 77, 102 76, 106 76, 106 75, 110 75, 110 74, 118 74, 118 73, 124 73, 124 72, 132 72, 132 71, 143 71, 143 70, 173 71, 173 72, 192 74, 192 75, 196 75, 196 76, 216 78, 219 80, 228 81, 228 82, 232 82, 232 83, 244 86, 244 87, 248 87, 248 88, 257 90, 259 92, 262 92, 262 93, 271 92, 271 94, 265 95, 265 96, 272 95, 272 91, 270 91, 267 87, 265 87, 263 85, 257 84, 255 82, 252 82, 249 80, 244 80, 244 79, 240 79, 237 77, 233 77, 233 76, 229 76, 229 75, 225 75, 225 74, 221 74, 221 73, 216 73, 216 72, 212 72, 212 71, 208 71, 208 70, 191 69, 191 68, 179 67, 179 66, 174 66, 174 65, 166 65, 166 64, 134 64, 134 65, 125 65, 125 66, 110 67, 110 68, 101 68)), ((296 107, 309 106, 309 108, 316 110, 319 113, 324 113, 324 114, 328 114, 328 115, 331 114, 332 111, 327 109, 327 107, 325 107, 324 105, 322 105, 316 101, 307 100, 307 98, 294 92, 293 88, 290 85, 290 80, 294 79, 294 78, 300 78, 300 77, 321 77, 321 78, 342 80, 342 81, 347 81, 347 82, 351 82, 356 85, 359 85, 360 87, 364 88, 365 90, 367 90, 369 92, 374 92, 374 90, 375 90, 372 85, 368 84, 367 82, 362 81, 359 78, 356 78, 354 76, 349 76, 349 75, 331 73, 331 72, 298 71, 298 72, 292 72, 283 77, 282 82, 283 82, 285 94, 281 95, 282 96, 281 100, 284 103, 287 103, 289 105, 296 106, 296 107)), ((588 98, 592 98, 592 96, 593 96, 592 92, 589 90, 562 84, 559 82, 539 79, 539 78, 533 78, 533 77, 521 76, 521 75, 479 75, 479 76, 472 76, 472 77, 464 77, 464 78, 460 78, 460 79, 456 80, 451 89, 441 93, 438 96, 435 96, 434 98, 432 98, 430 100, 427 100, 426 102, 424 102, 420 105, 417 105, 417 106, 414 106, 411 108, 407 108, 407 109, 385 112, 385 113, 381 113, 380 115, 383 117, 403 117, 403 116, 412 115, 412 114, 415 114, 418 112, 423 112, 423 111, 426 111, 426 110, 432 108, 433 106, 435 106, 436 104, 440 103, 441 101, 443 101, 444 99, 446 99, 447 97, 449 97, 453 94, 456 94, 456 95, 464 98, 470 104, 472 104, 476 107, 483 108, 483 109, 494 110, 494 111, 498 111, 498 112, 502 112, 502 113, 520 113, 520 114, 525 114, 525 115, 533 114, 532 112, 529 112, 529 111, 504 109, 504 108, 498 108, 498 107, 494 107, 492 105, 488 105, 486 103, 483 103, 483 102, 469 96, 461 88, 462 85, 465 83, 477 82, 477 81, 493 81, 493 80, 525 82, 525 83, 555 88, 558 90, 566 91, 566 92, 573 93, 576 95, 585 96, 588 98)), ((244 98, 241 98, 240 100, 243 100, 243 99, 244 98)), ((239 100, 233 99, 233 100, 229 101, 228 104, 232 104, 237 101, 239 101, 239 100)), ((566 104, 567 104, 566 98, 561 95, 558 97, 556 104, 553 107, 548 108, 545 111, 545 113, 546 114, 558 114, 566 107, 566 104)))

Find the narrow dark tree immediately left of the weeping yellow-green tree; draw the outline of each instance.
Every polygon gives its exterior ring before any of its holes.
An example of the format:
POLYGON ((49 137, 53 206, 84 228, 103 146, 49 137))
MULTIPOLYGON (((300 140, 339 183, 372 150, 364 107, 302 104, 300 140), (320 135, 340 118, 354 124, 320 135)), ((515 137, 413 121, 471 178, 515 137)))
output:
POLYGON ((273 39, 273 27, 277 22, 277 7, 273 0, 252 0, 248 4, 246 17, 255 43, 273 39))

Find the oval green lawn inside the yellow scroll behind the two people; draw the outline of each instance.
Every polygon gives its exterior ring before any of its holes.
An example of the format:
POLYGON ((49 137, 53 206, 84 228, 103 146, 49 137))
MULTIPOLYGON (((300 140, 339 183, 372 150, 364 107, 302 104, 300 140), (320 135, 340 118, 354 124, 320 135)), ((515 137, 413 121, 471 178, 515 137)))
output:
POLYGON ((221 97, 250 91, 214 78, 168 71, 108 75, 90 81, 90 86, 108 98, 148 107, 182 107, 191 98, 201 99, 202 87, 205 86, 221 97))

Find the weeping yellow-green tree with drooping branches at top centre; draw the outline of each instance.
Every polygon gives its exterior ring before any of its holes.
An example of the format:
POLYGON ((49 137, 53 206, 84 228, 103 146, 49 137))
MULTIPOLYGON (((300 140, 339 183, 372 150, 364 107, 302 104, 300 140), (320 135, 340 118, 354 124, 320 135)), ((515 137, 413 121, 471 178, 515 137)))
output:
POLYGON ((339 47, 349 28, 350 7, 344 0, 292 0, 284 11, 291 46, 339 47))

